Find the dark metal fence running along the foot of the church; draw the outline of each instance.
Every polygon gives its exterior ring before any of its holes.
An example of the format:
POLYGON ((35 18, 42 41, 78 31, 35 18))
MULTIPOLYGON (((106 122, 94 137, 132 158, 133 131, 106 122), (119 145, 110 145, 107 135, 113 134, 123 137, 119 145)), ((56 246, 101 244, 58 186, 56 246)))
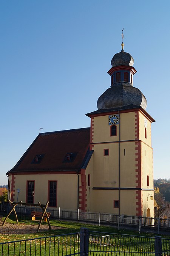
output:
MULTIPOLYGON (((19 219, 25 219, 26 216, 30 216, 32 211, 42 211, 40 207, 33 206, 17 206, 16 211, 19 219)), ((5 211, 9 211, 6 207, 5 211)), ((132 227, 138 229, 139 233, 141 229, 150 228, 156 230, 158 234, 160 231, 170 231, 170 219, 162 218, 150 218, 150 217, 139 217, 131 215, 118 215, 108 214, 102 212, 80 212, 74 210, 63 210, 63 209, 47 209, 47 212, 51 213, 51 217, 59 221, 70 221, 77 223, 86 223, 93 225, 112 225, 117 226, 118 229, 125 227, 132 227)))

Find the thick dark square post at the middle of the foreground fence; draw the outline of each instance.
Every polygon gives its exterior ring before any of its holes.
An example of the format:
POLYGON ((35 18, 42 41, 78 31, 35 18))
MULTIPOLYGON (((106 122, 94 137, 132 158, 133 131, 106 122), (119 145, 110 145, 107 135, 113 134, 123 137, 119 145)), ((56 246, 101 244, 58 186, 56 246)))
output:
POLYGON ((88 255, 89 229, 80 228, 80 256, 88 255))

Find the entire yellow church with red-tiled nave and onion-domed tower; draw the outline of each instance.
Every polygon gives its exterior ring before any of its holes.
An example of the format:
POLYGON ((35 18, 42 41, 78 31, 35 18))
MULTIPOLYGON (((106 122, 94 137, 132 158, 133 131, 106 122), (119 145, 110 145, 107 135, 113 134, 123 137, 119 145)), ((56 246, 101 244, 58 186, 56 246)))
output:
POLYGON ((10 171, 8 197, 49 208, 154 217, 147 100, 133 86, 132 56, 111 60, 111 86, 86 114, 89 128, 39 133, 10 171), (17 193, 20 189, 20 193, 17 193))

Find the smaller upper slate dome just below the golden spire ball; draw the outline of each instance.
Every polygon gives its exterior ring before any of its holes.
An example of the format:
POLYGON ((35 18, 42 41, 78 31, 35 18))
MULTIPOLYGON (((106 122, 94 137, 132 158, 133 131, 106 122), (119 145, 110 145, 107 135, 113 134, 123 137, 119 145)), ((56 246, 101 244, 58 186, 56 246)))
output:
POLYGON ((119 65, 133 66, 133 63, 133 57, 130 55, 130 53, 124 52, 124 49, 122 49, 121 52, 116 53, 111 60, 112 67, 116 67, 119 65))

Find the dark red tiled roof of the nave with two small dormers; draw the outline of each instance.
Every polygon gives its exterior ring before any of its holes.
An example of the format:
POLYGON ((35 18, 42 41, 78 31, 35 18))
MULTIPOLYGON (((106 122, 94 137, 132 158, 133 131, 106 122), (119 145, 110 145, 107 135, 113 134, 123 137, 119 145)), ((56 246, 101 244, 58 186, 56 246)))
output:
POLYGON ((22 171, 68 171, 82 168, 88 157, 90 128, 40 133, 7 174, 22 171), (65 162, 67 153, 77 153, 73 162, 65 162), (34 163, 36 155, 43 155, 34 163), (33 162, 33 163, 32 163, 33 162))

